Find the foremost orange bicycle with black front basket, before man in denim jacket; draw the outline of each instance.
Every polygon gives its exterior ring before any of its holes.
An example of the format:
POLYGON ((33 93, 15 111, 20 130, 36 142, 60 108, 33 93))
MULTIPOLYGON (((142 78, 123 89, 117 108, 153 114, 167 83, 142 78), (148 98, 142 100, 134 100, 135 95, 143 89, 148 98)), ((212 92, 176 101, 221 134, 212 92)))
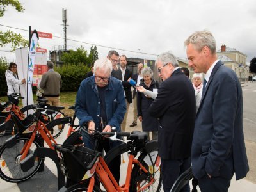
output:
MULTIPOLYGON (((81 131, 87 132, 85 129, 80 128, 75 133, 80 132, 81 134, 81 131)), ((73 147, 64 144, 55 145, 55 150, 60 157, 60 167, 63 174, 68 179, 78 183, 68 189, 63 187, 61 190, 97 192, 101 191, 99 184, 97 185, 98 182, 102 184, 106 191, 111 192, 161 190, 161 161, 158 156, 157 141, 147 141, 147 135, 140 131, 133 131, 132 133, 93 131, 93 134, 88 135, 93 137, 96 143, 99 143, 103 138, 118 140, 116 136, 125 136, 129 141, 112 148, 104 157, 100 152, 90 150, 81 145, 73 147), (108 164, 113 158, 120 156, 124 152, 129 153, 126 179, 124 184, 118 185, 108 168, 108 164), (137 159, 138 152, 140 152, 140 156, 137 159), (98 182, 95 182, 95 180, 98 182)), ((77 136, 79 135, 77 134, 77 136)))

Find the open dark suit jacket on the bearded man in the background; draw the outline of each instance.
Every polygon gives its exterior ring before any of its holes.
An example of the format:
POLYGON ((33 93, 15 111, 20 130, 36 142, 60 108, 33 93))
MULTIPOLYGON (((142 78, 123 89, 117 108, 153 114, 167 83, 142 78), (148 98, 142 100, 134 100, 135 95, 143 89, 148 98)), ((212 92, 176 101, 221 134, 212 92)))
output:
MULTIPOLYGON (((120 68, 118 68, 118 70, 115 71, 115 77, 116 79, 122 81, 122 72, 120 68)), ((127 81, 130 77, 132 78, 132 72, 128 68, 126 68, 124 73, 124 81, 122 81, 122 85, 124 88, 125 98, 127 99, 127 102, 132 103, 131 84, 127 81)))

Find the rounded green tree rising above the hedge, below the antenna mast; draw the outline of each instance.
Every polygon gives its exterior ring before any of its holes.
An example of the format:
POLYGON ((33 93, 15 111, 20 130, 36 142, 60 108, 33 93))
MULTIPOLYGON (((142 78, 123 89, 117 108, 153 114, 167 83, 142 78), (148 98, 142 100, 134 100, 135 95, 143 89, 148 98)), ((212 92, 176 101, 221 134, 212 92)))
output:
POLYGON ((69 52, 64 52, 61 56, 61 61, 65 64, 75 64, 75 65, 88 65, 87 51, 84 47, 78 47, 77 51, 70 50, 69 52))

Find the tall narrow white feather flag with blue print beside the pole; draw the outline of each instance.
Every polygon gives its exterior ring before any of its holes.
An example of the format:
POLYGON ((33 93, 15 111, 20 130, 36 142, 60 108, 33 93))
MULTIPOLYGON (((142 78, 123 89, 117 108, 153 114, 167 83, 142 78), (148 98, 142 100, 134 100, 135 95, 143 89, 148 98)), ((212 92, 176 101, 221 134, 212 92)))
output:
POLYGON ((38 42, 38 34, 36 30, 33 31, 29 46, 29 60, 28 60, 28 100, 33 99, 32 83, 33 83, 33 72, 35 66, 36 57, 36 46, 38 42))

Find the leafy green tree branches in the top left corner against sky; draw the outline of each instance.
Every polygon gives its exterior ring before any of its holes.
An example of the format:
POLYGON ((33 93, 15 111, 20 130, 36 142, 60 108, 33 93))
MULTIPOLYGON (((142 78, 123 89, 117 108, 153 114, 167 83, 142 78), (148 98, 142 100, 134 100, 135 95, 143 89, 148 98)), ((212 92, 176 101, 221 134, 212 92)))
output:
MULTIPOLYGON (((17 12, 23 12, 24 8, 17 0, 4 0, 0 1, 0 17, 4 16, 4 12, 6 12, 6 7, 12 6, 17 12)), ((12 51, 15 50, 16 47, 22 46, 26 47, 29 44, 29 41, 23 38, 20 34, 13 33, 13 31, 0 31, 0 47, 3 47, 6 44, 12 45, 12 51)))

